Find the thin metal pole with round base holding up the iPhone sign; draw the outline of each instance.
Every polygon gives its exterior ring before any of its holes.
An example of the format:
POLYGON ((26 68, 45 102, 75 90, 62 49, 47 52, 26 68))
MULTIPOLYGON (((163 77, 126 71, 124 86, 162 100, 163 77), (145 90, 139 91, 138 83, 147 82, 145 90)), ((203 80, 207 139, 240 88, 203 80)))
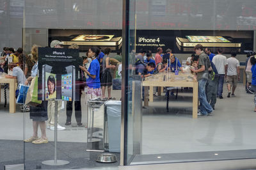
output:
MULTIPOLYGON (((51 100, 52 101, 52 100, 51 100)), ((62 101, 62 100, 60 100, 62 101)), ((54 160, 44 160, 42 164, 47 166, 63 166, 69 164, 67 160, 57 160, 57 125, 58 125, 58 100, 55 102, 55 112, 54 112, 54 160)))

